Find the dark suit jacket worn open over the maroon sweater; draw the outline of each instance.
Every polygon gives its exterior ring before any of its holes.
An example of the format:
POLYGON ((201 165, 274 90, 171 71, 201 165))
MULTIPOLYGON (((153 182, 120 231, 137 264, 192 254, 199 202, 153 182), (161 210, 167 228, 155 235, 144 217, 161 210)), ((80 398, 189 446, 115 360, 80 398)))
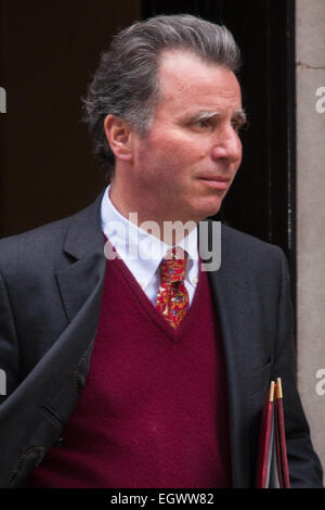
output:
MULTIPOLYGON (((101 200, 0 241, 1 487, 22 486, 55 446, 84 384, 106 265, 101 200)), ((222 227, 221 268, 208 277, 225 350, 233 486, 255 484, 260 411, 270 380, 281 377, 291 485, 322 487, 296 390, 282 251, 222 227)))

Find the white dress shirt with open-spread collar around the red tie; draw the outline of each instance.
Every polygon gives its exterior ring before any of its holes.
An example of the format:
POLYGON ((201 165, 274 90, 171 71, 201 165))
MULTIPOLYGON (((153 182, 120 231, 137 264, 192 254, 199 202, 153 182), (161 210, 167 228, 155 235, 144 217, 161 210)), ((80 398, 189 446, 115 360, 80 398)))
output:
MULTIPOLYGON (((135 225, 136 213, 132 215, 132 221, 122 216, 109 199, 109 188, 110 186, 106 188, 102 201, 102 230, 150 301, 155 305, 160 280, 159 264, 171 246, 139 228, 135 225)), ((184 283, 191 304, 198 282, 197 229, 193 229, 177 245, 188 255, 184 283)))

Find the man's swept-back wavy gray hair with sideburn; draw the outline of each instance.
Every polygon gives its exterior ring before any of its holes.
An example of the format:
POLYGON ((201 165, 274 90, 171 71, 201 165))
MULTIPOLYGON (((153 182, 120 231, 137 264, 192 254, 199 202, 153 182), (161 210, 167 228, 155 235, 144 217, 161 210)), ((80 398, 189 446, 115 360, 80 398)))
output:
POLYGON ((233 73, 240 66, 239 49, 227 28, 190 14, 158 15, 117 34, 109 49, 102 53, 82 99, 83 120, 93 137, 94 155, 108 169, 107 181, 113 176, 115 158, 105 136, 104 119, 113 114, 127 120, 140 136, 147 133, 159 100, 159 55, 173 49, 190 51, 233 73))

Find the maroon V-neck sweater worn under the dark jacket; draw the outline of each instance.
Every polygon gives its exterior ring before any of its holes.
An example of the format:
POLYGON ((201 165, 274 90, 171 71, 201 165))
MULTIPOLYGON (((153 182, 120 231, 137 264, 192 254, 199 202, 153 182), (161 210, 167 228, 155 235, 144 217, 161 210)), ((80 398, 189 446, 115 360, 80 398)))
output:
POLYGON ((226 381, 208 276, 172 329, 107 260, 88 378, 27 487, 229 487, 226 381))

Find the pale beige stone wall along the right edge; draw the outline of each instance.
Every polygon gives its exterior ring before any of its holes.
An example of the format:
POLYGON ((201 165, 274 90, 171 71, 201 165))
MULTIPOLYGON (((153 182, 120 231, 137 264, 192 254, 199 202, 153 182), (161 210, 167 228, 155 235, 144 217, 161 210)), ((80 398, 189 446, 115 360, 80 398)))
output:
POLYGON ((325 0, 296 0, 296 64, 298 386, 325 470, 325 0))

